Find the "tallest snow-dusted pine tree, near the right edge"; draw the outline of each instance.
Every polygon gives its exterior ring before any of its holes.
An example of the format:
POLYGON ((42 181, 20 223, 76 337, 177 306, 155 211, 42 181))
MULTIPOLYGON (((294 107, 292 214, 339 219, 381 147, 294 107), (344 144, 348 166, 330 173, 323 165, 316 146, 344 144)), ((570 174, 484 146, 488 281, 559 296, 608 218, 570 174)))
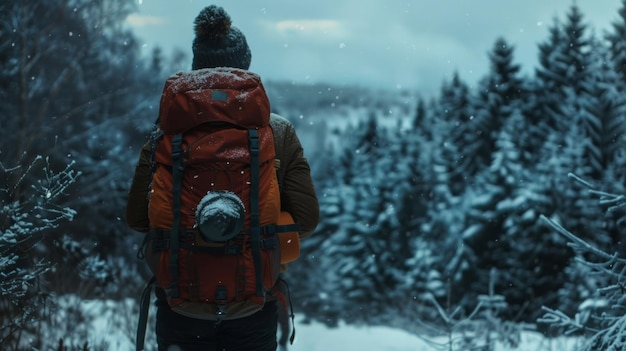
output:
MULTIPOLYGON (((538 136, 543 135, 540 137, 543 147, 537 152, 535 172, 541 177, 538 180, 551 184, 547 193, 552 199, 542 209, 576 230, 598 228, 594 243, 606 245, 606 229, 601 229, 602 214, 589 202, 590 197, 581 193, 582 189, 567 184, 565 175, 568 172, 602 174, 606 158, 611 157, 605 153, 605 145, 614 139, 606 128, 611 125, 610 115, 621 104, 621 98, 609 97, 610 94, 602 91, 602 81, 610 79, 606 65, 602 64, 604 49, 588 37, 583 15, 575 5, 568 11, 564 24, 555 20, 549 41, 539 48, 540 68, 536 71, 538 83, 533 107, 536 114, 531 118, 541 125, 537 131, 538 136), (563 203, 569 204, 567 210, 559 209, 563 203)), ((619 129, 618 124, 613 124, 613 128, 619 129)), ((545 247, 555 249, 555 244, 558 245, 556 240, 550 240, 545 247)), ((553 262, 556 270, 552 274, 565 284, 561 271, 569 265, 571 255, 555 252, 545 259, 553 262)))

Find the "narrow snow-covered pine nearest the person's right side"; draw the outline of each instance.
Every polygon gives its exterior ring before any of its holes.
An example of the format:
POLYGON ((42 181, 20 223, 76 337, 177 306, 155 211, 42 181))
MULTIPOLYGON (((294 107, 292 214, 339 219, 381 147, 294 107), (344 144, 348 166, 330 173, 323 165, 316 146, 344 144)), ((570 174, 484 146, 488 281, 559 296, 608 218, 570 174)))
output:
MULTIPOLYGON (((359 135, 355 147, 348 150, 353 154, 350 167, 354 177, 349 183, 353 197, 345 201, 352 208, 343 218, 343 230, 329 241, 332 250, 328 254, 336 272, 334 280, 329 282, 336 289, 333 297, 340 304, 336 307, 343 311, 342 319, 353 323, 382 318, 385 306, 381 305, 380 294, 389 290, 377 288, 386 286, 378 284, 379 279, 386 279, 386 274, 380 275, 382 266, 378 262, 387 254, 381 251, 385 246, 383 240, 393 240, 378 224, 385 207, 381 187, 387 181, 379 172, 388 173, 382 165, 386 160, 380 156, 383 150, 388 150, 388 140, 374 113, 362 123, 359 135)), ((390 271, 392 268, 387 266, 390 271)))

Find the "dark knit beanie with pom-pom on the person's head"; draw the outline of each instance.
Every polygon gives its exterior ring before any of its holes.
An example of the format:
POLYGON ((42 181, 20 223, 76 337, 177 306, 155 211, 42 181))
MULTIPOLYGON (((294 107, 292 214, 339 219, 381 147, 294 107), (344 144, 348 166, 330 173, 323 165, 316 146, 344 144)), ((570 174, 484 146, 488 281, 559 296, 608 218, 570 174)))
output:
POLYGON ((194 21, 192 69, 232 67, 247 70, 252 54, 243 33, 231 26, 222 7, 205 7, 194 21))

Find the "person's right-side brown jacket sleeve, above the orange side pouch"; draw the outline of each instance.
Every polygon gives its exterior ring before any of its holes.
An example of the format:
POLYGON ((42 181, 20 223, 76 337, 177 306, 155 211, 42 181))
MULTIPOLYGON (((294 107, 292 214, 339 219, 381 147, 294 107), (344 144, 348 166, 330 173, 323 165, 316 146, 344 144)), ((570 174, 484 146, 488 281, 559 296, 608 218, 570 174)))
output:
POLYGON ((293 125, 283 117, 272 114, 272 118, 276 156, 280 160, 281 208, 300 224, 301 237, 306 237, 319 222, 319 203, 311 169, 293 125))

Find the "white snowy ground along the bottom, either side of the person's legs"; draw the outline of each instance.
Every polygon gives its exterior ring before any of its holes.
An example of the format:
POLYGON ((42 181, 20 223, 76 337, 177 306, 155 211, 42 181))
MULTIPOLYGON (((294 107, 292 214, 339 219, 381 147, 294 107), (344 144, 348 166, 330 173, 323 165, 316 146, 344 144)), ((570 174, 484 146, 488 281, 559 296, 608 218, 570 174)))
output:
MULTIPOLYGON (((67 302, 67 301, 66 301, 67 302)), ((93 350, 134 350, 134 336, 136 328, 136 312, 134 301, 128 300, 122 304, 101 301, 73 300, 74 307, 81 306, 85 321, 91 321, 91 326, 85 326, 89 333, 89 344, 93 350)), ((151 312, 154 309, 151 308, 151 312)), ((69 317, 67 315, 61 318, 69 317)), ((67 337, 68 334, 66 334, 67 337)), ((69 335, 72 335, 70 333, 69 335)), ((53 338, 57 336, 52 336, 53 338)), ((58 337, 57 337, 58 338, 58 337)), ((67 340, 67 339, 66 339, 67 340)), ((149 326, 147 345, 151 346, 154 335, 149 326)), ((84 339, 83 339, 84 341, 84 339)), ((402 330, 385 327, 354 327, 340 325, 339 328, 329 329, 319 323, 305 324, 296 321, 296 341, 289 348, 290 351, 438 351, 448 350, 446 339, 424 340, 402 330)), ((578 339, 546 339, 538 333, 527 332, 522 335, 521 345, 510 349, 497 345, 494 351, 575 351, 578 349, 578 339)), ((155 348, 148 347, 147 350, 155 348)), ((453 348, 460 351, 459 348, 453 348)), ((463 350, 467 351, 467 350, 463 350)))

